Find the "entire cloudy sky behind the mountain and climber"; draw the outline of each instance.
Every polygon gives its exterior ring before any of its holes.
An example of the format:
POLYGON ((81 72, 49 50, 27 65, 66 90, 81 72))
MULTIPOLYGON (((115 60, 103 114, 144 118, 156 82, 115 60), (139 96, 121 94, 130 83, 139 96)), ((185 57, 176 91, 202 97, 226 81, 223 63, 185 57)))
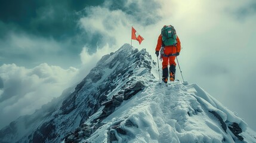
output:
MULTIPOLYGON (((105 54, 143 36, 155 56, 162 26, 181 41, 184 80, 197 83, 256 130, 253 0, 0 0, 0 128, 75 86, 105 54)), ((181 79, 177 67, 177 79, 181 79)))

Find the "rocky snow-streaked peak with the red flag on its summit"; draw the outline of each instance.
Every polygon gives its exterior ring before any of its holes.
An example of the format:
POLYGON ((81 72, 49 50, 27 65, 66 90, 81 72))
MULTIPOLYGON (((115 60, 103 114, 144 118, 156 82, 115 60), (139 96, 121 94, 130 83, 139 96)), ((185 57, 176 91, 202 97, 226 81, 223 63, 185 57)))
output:
POLYGON ((20 117, 0 130, 3 135, 0 142, 60 142, 100 110, 101 103, 138 84, 143 77, 153 79, 150 71, 155 64, 145 49, 138 51, 123 45, 118 51, 104 55, 74 92, 53 101, 55 106, 50 103, 50 107, 20 117))

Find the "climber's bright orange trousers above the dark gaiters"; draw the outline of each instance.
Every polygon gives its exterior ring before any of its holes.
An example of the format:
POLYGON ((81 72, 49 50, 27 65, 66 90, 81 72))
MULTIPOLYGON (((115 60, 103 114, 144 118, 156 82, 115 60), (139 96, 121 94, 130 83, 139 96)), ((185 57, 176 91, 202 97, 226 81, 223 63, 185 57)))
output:
MULTIPOLYGON (((165 46, 164 54, 165 55, 176 54, 176 47, 175 46, 165 46)), ((162 69, 165 69, 166 67, 168 67, 168 64, 169 65, 174 64, 174 66, 176 66, 175 58, 176 58, 175 56, 169 56, 169 57, 163 56, 162 57, 162 59, 163 59, 162 69)))

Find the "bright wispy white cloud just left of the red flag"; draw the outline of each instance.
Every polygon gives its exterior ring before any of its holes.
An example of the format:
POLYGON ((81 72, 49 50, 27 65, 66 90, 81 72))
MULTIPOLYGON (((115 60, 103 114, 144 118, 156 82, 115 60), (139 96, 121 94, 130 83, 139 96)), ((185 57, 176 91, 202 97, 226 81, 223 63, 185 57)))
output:
MULTIPOLYGON (((128 26, 128 20, 125 18, 127 15, 122 11, 110 11, 107 8, 101 7, 90 7, 86 11, 91 11, 87 17, 82 17, 79 20, 79 26, 86 32, 85 37, 89 37, 88 41, 88 52, 93 53, 97 47, 103 47, 105 45, 113 46, 118 42, 116 36, 128 38, 128 29, 124 30, 128 26), (120 31, 122 29, 122 32, 120 31)), ((123 43, 122 43, 123 44, 123 43)))

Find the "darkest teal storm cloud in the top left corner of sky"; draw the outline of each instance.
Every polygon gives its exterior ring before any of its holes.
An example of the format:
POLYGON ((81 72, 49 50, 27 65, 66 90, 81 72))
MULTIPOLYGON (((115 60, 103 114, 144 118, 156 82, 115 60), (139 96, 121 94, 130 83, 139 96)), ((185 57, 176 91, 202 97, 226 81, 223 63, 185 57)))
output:
POLYGON ((41 36, 65 39, 76 34, 76 11, 103 1, 3 1, 0 19, 18 29, 41 36))

